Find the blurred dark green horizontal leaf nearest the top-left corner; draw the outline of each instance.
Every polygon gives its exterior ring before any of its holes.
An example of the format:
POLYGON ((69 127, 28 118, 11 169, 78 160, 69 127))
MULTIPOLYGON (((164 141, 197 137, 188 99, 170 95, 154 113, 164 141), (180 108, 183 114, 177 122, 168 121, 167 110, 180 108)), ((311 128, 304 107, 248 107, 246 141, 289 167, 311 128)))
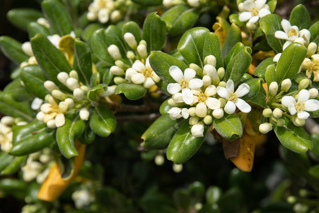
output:
POLYGON ((11 24, 25 31, 30 22, 41 17, 41 11, 32 8, 14 8, 7 13, 7 19, 11 24))

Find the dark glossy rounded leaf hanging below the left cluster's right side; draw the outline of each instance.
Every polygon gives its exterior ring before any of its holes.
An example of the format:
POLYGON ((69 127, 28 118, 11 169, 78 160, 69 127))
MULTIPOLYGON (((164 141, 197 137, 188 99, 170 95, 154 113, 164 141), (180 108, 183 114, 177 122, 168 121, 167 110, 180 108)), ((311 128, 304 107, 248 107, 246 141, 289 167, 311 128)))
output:
POLYGON ((115 131, 116 119, 108 107, 97 105, 92 111, 90 127, 97 135, 107 137, 115 131))

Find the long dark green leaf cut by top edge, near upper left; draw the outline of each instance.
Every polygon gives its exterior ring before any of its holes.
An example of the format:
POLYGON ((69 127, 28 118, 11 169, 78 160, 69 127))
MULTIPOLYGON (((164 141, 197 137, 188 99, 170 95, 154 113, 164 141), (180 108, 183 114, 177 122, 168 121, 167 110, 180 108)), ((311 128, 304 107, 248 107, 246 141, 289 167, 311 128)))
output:
POLYGON ((44 0, 41 8, 50 23, 51 34, 63 36, 73 31, 70 14, 60 1, 44 0))

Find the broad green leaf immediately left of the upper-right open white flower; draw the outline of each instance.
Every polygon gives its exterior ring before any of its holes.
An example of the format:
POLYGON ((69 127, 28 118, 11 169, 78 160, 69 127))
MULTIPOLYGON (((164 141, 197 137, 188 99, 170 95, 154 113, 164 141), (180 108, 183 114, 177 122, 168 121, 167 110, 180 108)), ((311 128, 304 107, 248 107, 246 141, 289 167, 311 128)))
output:
POLYGON ((268 14, 259 20, 260 27, 266 34, 268 44, 277 52, 282 52, 284 40, 275 37, 275 32, 282 30, 281 18, 277 14, 268 14))

